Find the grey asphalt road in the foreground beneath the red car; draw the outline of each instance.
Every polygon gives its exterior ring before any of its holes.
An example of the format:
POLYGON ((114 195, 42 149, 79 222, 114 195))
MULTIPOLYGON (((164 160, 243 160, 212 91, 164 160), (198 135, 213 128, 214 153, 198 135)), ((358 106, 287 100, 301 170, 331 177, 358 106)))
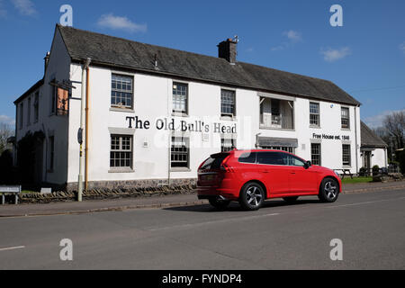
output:
POLYGON ((333 204, 274 200, 260 211, 209 205, 0 219, 0 269, 404 269, 405 190, 333 204), (61 261, 60 240, 73 242, 61 261), (342 240, 343 260, 329 257, 342 240))

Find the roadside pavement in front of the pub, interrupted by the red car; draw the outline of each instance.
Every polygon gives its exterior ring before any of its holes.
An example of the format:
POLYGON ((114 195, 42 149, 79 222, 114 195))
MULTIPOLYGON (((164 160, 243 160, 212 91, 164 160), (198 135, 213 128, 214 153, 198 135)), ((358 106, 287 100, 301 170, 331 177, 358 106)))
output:
MULTIPOLYGON (((382 190, 405 188, 405 182, 346 184, 343 193, 367 193, 382 190)), ((83 214, 103 211, 128 211, 134 209, 153 209, 205 204, 195 194, 156 196, 148 198, 123 198, 94 200, 85 202, 52 202, 46 204, 0 205, 0 218, 29 217, 63 214, 83 214)))

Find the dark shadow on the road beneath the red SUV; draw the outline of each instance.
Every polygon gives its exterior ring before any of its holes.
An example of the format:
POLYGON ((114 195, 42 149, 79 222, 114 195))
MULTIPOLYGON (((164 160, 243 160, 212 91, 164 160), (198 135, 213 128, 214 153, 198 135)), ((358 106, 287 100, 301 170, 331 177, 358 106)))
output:
MULTIPOLYGON (((305 205, 305 204, 316 204, 320 203, 319 200, 298 200, 297 202, 294 203, 287 203, 284 201, 280 200, 269 200, 266 201, 263 207, 260 210, 264 210, 267 208, 273 208, 273 207, 284 207, 284 206, 298 206, 298 205, 305 205)), ((244 211, 238 202, 231 202, 229 207, 224 210, 219 210, 214 207, 212 207, 210 204, 204 204, 204 205, 195 205, 195 206, 185 206, 185 207, 170 207, 170 208, 165 208, 164 210, 166 211, 188 211, 188 212, 227 212, 227 211, 244 211)))

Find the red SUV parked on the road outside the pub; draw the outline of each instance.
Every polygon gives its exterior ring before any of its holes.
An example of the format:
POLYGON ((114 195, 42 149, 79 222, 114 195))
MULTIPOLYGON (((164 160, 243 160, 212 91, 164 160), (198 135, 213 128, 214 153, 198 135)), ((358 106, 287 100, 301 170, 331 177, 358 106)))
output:
POLYGON ((212 155, 198 168, 198 198, 216 208, 238 201, 247 210, 258 210, 266 199, 295 202, 299 196, 318 195, 335 202, 342 182, 332 170, 284 151, 234 150, 212 155))

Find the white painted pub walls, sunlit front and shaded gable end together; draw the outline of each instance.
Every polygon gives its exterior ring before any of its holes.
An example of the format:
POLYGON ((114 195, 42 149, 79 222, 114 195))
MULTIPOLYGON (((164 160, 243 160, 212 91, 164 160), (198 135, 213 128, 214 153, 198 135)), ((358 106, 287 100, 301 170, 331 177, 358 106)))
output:
MULTIPOLYGON (((260 129, 260 97, 256 91, 235 89, 227 86, 211 85, 199 82, 186 82, 189 87, 189 117, 175 117, 176 121, 204 121, 210 124, 211 133, 208 141, 202 140, 201 132, 186 133, 190 137, 190 169, 187 171, 169 172, 169 139, 173 132, 157 130, 155 121, 158 118, 172 117, 172 87, 173 79, 165 76, 150 76, 139 73, 130 73, 134 76, 134 111, 115 111, 111 109, 111 82, 112 71, 105 67, 90 67, 90 110, 89 110, 89 181, 114 180, 143 180, 143 179, 178 179, 195 178, 197 168, 204 159, 213 153, 220 152, 220 133, 212 133, 212 123, 220 122, 222 125, 237 125, 238 148, 255 148, 256 135, 261 137, 298 139, 299 146, 296 154, 304 159, 311 160, 311 141, 313 134, 328 134, 333 136, 347 136, 351 145, 352 173, 356 173, 361 166, 359 152, 360 145, 360 110, 354 106, 350 108, 350 130, 341 129, 341 105, 337 103, 320 102, 320 128, 310 127, 310 100, 295 98, 294 101, 294 130, 266 130, 260 129), (234 120, 220 118, 220 90, 236 91, 237 112, 234 120), (138 116, 142 121, 150 121, 149 130, 131 130, 133 141, 133 171, 129 173, 112 173, 110 170, 110 137, 111 129, 127 129, 126 117, 138 116), (357 135, 356 135, 357 131, 357 135), (144 147, 144 142, 148 147, 144 147), (357 156, 357 160, 356 160, 357 156)), ((81 82, 81 65, 71 63, 63 40, 56 31, 49 58, 49 66, 45 76, 45 85, 40 88, 40 121, 18 130, 17 139, 21 139, 28 130, 44 130, 46 139, 54 135, 55 170, 47 172, 44 168, 44 182, 52 184, 76 183, 78 175, 79 145, 77 143, 77 130, 80 121, 80 101, 69 101, 68 117, 50 115, 49 81, 56 77, 58 81, 70 79, 81 82)), ((176 81, 177 82, 177 81, 176 81)), ((178 81, 183 82, 183 81, 178 81)), ((74 98, 81 98, 81 84, 74 84, 74 98)), ((26 111, 24 100, 24 111, 26 111)), ((33 101, 31 101, 33 105, 33 101)), ((32 108, 33 109, 33 108, 32 108)), ((26 115, 26 112, 24 112, 26 115)), ((24 115, 24 117, 26 117, 24 115)), ((31 111, 33 117, 33 110, 31 111)), ((17 121, 19 116, 17 115, 17 121)), ((25 119, 24 119, 25 122, 25 119)), ((18 123, 17 123, 18 125, 18 123)), ((178 133, 177 133, 178 134, 178 133)), ((342 144, 341 139, 320 139, 322 166, 332 169, 341 169, 342 144)), ((48 157, 49 150, 44 144, 44 157, 48 157)), ((377 153, 376 161, 382 156, 377 153)))

